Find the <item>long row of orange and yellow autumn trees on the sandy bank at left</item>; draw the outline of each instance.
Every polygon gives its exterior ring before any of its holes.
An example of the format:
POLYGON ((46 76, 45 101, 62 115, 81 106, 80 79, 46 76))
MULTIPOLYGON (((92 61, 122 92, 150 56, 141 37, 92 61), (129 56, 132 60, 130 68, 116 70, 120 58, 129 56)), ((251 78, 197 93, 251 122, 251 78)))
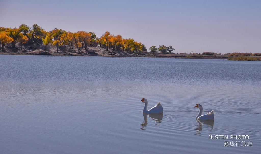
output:
POLYGON ((134 41, 134 39, 124 39, 121 35, 113 35, 110 32, 105 32, 99 38, 93 32, 78 31, 67 32, 62 29, 52 29, 51 31, 45 31, 37 24, 33 24, 32 27, 26 24, 21 24, 19 28, 5 28, 0 27, 0 43, 2 44, 2 51, 4 46, 11 43, 11 46, 15 48, 16 42, 20 43, 20 49, 26 42, 42 43, 44 50, 47 50, 48 45, 56 46, 57 52, 59 46, 68 45, 72 49, 76 47, 78 52, 80 50, 86 50, 87 47, 100 46, 113 51, 123 51, 127 53, 138 54, 141 51, 147 51, 144 44, 134 41))

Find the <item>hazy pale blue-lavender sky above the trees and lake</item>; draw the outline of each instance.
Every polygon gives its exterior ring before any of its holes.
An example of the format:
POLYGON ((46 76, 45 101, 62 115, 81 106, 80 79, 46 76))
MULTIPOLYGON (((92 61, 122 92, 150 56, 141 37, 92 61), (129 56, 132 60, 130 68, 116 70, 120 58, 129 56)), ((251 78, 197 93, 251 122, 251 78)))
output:
POLYGON ((105 31, 174 52, 261 52, 261 1, 0 0, 0 27, 105 31))

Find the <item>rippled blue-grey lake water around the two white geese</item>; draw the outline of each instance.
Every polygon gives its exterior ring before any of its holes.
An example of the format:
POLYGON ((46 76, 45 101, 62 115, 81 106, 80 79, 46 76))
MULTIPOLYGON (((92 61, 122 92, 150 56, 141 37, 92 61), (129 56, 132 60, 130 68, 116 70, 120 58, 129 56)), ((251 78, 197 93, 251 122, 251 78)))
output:
POLYGON ((0 68, 1 153, 260 152, 260 61, 0 55, 0 68))

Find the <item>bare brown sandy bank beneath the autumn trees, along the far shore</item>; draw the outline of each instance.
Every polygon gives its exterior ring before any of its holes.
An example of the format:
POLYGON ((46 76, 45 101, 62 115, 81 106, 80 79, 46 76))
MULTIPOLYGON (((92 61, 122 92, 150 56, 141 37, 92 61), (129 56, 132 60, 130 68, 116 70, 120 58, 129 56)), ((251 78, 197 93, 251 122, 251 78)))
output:
POLYGON ((229 58, 228 55, 222 55, 217 54, 213 56, 207 56, 202 54, 187 54, 187 53, 168 53, 168 54, 162 54, 162 53, 139 53, 139 54, 133 54, 133 53, 127 53, 123 51, 113 51, 109 49, 106 51, 106 48, 102 47, 93 47, 89 46, 87 48, 87 51, 80 50, 78 52, 76 47, 71 46, 60 46, 58 52, 56 51, 56 48, 52 45, 48 45, 46 47, 46 51, 44 51, 43 45, 24 45, 22 47, 22 50, 18 48, 17 46, 15 48, 12 48, 11 46, 5 46, 4 52, 0 51, 0 54, 5 55, 42 55, 42 56, 101 56, 101 57, 154 57, 154 58, 186 58, 186 59, 228 59, 233 60, 229 58))

